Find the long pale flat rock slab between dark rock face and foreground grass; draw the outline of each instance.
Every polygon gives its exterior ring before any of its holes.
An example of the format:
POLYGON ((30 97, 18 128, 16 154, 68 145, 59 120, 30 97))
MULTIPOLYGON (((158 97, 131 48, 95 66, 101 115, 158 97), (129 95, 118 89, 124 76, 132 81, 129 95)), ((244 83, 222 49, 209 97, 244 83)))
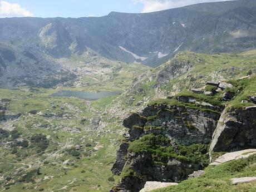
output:
POLYGON ((247 158, 253 154, 256 154, 256 149, 245 149, 242 151, 227 152, 227 154, 221 155, 218 159, 216 159, 210 165, 216 166, 216 165, 228 162, 228 161, 247 158))

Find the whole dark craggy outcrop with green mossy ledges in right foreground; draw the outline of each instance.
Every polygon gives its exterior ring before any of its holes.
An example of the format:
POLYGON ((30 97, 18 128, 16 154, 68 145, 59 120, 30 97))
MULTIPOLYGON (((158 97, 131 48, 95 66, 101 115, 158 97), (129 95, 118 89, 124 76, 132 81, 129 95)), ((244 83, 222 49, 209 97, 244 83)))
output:
MULTIPOLYGON (((129 132, 112 167, 121 181, 111 192, 140 191, 146 181, 177 183, 204 169, 209 152, 256 147, 256 107, 226 105, 236 94, 232 90, 231 83, 206 82, 127 117, 129 132)), ((247 98, 241 102, 255 104, 254 96, 247 98)))

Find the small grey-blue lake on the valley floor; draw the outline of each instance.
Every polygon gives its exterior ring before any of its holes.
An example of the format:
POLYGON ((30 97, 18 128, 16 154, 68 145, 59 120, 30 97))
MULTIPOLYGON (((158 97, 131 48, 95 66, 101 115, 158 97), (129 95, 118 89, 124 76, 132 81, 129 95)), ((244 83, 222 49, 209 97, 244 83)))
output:
POLYGON ((53 93, 52 97, 78 97, 84 100, 98 100, 105 97, 120 95, 121 91, 113 91, 113 92, 86 92, 86 91, 66 91, 62 90, 57 93, 53 93))

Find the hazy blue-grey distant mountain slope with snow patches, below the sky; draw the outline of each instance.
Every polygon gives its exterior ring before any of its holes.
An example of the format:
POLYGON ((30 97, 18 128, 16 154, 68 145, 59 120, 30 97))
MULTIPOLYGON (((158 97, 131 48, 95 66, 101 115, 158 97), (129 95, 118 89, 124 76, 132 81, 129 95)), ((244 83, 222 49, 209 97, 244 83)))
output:
POLYGON ((55 59, 91 51, 111 60, 157 66, 184 50, 248 50, 255 48, 255 10, 255 1, 238 0, 144 14, 1 18, 0 81, 72 83, 75 75, 55 59))

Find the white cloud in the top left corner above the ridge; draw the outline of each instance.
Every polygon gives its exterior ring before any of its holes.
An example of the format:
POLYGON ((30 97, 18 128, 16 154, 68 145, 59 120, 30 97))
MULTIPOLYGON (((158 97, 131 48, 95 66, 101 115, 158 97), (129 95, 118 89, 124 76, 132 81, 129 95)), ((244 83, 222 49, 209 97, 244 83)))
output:
POLYGON ((0 17, 31 17, 33 14, 19 4, 0 1, 0 17))

